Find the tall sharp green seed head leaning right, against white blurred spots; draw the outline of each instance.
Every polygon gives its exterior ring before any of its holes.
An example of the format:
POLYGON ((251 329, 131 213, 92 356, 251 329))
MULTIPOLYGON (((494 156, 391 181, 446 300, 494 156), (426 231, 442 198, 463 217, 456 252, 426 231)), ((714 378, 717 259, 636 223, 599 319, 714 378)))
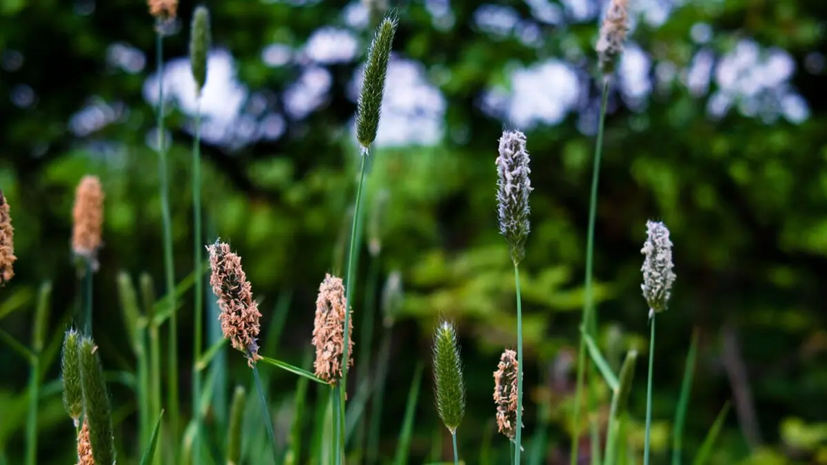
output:
POLYGON ((388 77, 390 50, 398 21, 396 17, 385 17, 376 28, 376 35, 370 43, 362 78, 362 88, 356 109, 356 139, 366 152, 376 139, 382 98, 385 96, 385 81, 388 77))

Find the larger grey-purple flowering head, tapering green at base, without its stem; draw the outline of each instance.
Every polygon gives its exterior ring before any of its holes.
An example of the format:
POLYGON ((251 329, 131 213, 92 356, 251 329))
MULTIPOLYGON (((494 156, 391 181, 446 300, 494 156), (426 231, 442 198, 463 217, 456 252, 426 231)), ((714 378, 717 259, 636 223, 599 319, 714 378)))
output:
POLYGON ((500 137, 500 156, 497 157, 497 207, 500 218, 500 234, 509 243, 514 265, 525 256, 525 241, 531 232, 528 194, 531 194, 531 169, 525 135, 519 131, 505 131, 500 137))

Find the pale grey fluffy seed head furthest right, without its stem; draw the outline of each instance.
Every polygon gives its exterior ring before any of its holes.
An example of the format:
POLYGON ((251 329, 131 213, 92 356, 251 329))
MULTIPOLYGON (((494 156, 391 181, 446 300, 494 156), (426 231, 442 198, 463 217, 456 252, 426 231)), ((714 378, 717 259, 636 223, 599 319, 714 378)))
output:
POLYGON ((669 230, 661 222, 646 222, 646 242, 643 242, 641 253, 643 259, 643 297, 649 304, 649 317, 667 309, 672 283, 675 282, 675 273, 672 272, 672 241, 669 240, 669 230))

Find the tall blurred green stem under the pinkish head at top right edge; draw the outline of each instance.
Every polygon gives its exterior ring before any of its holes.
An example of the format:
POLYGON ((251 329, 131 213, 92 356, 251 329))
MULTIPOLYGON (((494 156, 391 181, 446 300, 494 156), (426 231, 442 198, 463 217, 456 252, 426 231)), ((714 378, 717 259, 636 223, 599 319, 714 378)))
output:
MULTIPOLYGON (((600 156, 603 154, 603 126, 606 117, 606 102, 609 99, 609 80, 603 83, 603 96, 600 100, 600 120, 597 127, 597 145, 595 146, 595 161, 591 172, 591 194, 589 199, 589 226, 586 232, 586 298, 583 301, 582 326, 586 333, 594 336, 597 329, 597 319, 594 315, 594 294, 592 290, 592 268, 595 255, 595 216, 597 215, 597 186, 600 181, 600 156)), ((580 338, 580 350, 577 353, 577 388, 574 404, 574 422, 571 435, 571 465, 576 465, 577 453, 580 451, 580 410, 583 395, 583 383, 586 370, 586 339, 580 338)), ((592 368, 593 371, 593 368, 592 368)), ((591 376, 594 379, 594 376, 591 376)), ((593 405, 593 396, 589 398, 589 409, 593 405)))

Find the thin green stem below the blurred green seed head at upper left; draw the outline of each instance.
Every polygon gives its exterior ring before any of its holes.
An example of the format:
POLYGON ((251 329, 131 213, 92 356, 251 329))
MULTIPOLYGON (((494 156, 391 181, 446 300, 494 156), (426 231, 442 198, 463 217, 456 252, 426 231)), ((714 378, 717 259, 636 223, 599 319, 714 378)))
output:
MULTIPOLYGON (((193 253, 195 265, 195 299, 194 299, 194 334, 193 360, 201 357, 203 333, 203 237, 201 232, 201 98, 195 111, 195 141, 193 142, 193 253)), ((201 463, 201 413, 198 408, 201 399, 201 372, 193 363, 193 415, 195 419, 195 438, 193 440, 193 463, 201 463)))

